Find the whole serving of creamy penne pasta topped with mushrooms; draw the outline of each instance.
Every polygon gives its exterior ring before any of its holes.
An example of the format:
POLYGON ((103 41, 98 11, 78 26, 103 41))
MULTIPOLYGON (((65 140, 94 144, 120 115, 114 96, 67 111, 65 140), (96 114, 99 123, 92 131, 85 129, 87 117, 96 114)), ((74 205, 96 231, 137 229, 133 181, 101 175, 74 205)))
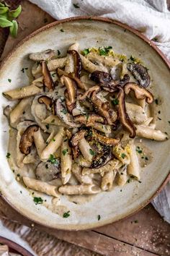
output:
POLYGON ((9 147, 16 148, 9 165, 17 180, 69 199, 140 182, 140 158, 148 156, 136 143, 168 139, 156 129, 151 77, 142 62, 111 46, 80 50, 79 43, 62 58, 48 49, 30 59, 32 84, 4 92, 20 100, 4 111, 17 135, 9 147))

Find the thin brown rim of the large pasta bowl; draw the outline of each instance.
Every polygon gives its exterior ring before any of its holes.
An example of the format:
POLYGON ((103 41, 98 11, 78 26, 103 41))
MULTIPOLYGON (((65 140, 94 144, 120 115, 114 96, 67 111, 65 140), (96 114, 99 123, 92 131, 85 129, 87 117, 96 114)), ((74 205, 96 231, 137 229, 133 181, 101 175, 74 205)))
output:
MULTIPOLYGON (((18 44, 17 46, 15 46, 12 51, 9 52, 9 54, 7 54, 7 56, 1 61, 0 64, 0 70, 3 68, 4 64, 6 63, 6 61, 14 54, 14 52, 17 50, 17 48, 19 48, 20 46, 22 46, 22 44, 24 44, 24 42, 26 42, 27 40, 30 40, 30 38, 33 38, 35 35, 48 30, 51 27, 55 27, 56 25, 61 25, 63 23, 67 23, 67 22, 73 22, 73 21, 80 21, 80 20, 91 20, 91 21, 99 21, 99 22, 107 22, 107 23, 111 23, 114 25, 117 25, 119 27, 122 27, 125 30, 130 31, 130 33, 135 34, 136 36, 138 36, 138 38, 140 38, 141 40, 145 41, 146 43, 148 43, 149 46, 151 46, 153 48, 154 51, 156 51, 156 54, 158 54, 159 56, 161 56, 161 59, 163 59, 164 63, 166 64, 166 66, 169 68, 170 70, 170 61, 169 59, 166 58, 166 56, 162 53, 161 50, 158 49, 158 47, 156 46, 155 43, 153 43, 150 39, 146 38, 145 35, 141 34, 138 30, 135 30, 134 28, 122 23, 122 22, 118 22, 116 20, 112 20, 109 18, 105 18, 105 17, 98 17, 98 16, 78 16, 78 17, 69 17, 63 20, 56 20, 55 22, 51 22, 48 25, 45 25, 43 27, 40 27, 38 30, 35 30, 33 33, 31 33, 30 35, 27 35, 26 38, 23 38, 18 44)), ((29 219, 30 221, 32 221, 32 223, 37 223, 40 226, 44 226, 45 228, 50 228, 51 230, 63 230, 63 231, 79 231, 79 230, 88 230, 88 229, 96 229, 98 227, 110 224, 110 223, 114 223, 126 218, 129 218, 130 216, 133 216, 135 213, 138 213, 139 210, 142 210, 146 205, 148 205, 149 202, 151 202, 151 200, 153 200, 154 197, 156 197, 156 195, 158 195, 159 192, 161 192, 161 190, 164 188, 164 186, 166 185, 167 182, 170 181, 170 172, 169 174, 166 176, 166 178, 164 179, 164 181, 161 183, 161 185, 156 189, 156 192, 153 193, 153 195, 147 199, 145 202, 143 202, 143 204, 139 205, 138 207, 136 207, 133 212, 129 213, 127 216, 123 216, 120 217, 119 219, 117 219, 116 221, 113 221, 112 218, 109 218, 105 221, 98 221, 97 223, 91 223, 91 224, 81 224, 81 226, 77 226, 76 224, 71 225, 71 227, 67 227, 68 225, 62 225, 62 228, 56 228, 56 227, 52 227, 48 224, 45 223, 40 223, 39 221, 35 221, 33 220, 30 216, 27 216, 26 213, 22 213, 18 208, 15 207, 15 205, 12 205, 12 202, 9 202, 9 200, 4 196, 1 195, 1 197, 3 198, 3 200, 9 205, 11 206, 14 210, 17 211, 17 213, 21 214, 22 216, 24 216, 24 218, 29 219)))

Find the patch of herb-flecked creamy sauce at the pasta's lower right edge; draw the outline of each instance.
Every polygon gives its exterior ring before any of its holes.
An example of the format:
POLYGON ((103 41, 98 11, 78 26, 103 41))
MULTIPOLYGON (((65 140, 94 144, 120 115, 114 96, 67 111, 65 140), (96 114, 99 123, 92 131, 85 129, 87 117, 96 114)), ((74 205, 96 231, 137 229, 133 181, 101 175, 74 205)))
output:
POLYGON ((151 153, 151 150, 146 147, 146 145, 143 145, 143 142, 141 139, 135 140, 135 146, 136 146, 136 153, 138 155, 138 161, 140 163, 141 167, 148 166, 149 163, 151 163, 153 156, 151 153))

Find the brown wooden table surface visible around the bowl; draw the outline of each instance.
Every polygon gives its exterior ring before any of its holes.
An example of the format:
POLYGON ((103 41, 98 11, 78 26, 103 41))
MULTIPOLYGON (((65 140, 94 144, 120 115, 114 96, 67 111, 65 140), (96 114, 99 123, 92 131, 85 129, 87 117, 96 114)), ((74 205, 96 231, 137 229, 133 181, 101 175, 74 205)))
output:
MULTIPOLYGON (((170 6, 170 0, 169 6, 170 6)), ((6 41, 2 57, 26 35, 45 24, 53 22, 53 18, 28 1, 22 1, 22 14, 19 17, 19 36, 6 41), (34 13, 34 15, 32 15, 34 13)), ((58 239, 91 249, 101 255, 113 256, 151 256, 170 255, 170 226, 158 215, 152 205, 146 206, 139 213, 117 223, 103 226, 91 231, 54 231, 20 216, 3 200, 0 200, 4 218, 9 218, 32 229, 39 229, 58 239)))

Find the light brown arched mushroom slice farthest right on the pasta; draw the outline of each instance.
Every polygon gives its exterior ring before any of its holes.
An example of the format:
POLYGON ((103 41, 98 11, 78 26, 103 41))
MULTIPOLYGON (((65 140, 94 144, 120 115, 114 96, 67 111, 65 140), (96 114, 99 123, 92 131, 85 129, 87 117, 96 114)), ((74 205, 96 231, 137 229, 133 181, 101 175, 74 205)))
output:
POLYGON ((130 90, 133 90, 135 98, 138 100, 146 99, 148 104, 153 103, 153 95, 146 88, 140 88, 135 82, 128 82, 128 84, 125 85, 125 94, 130 93, 130 90))

